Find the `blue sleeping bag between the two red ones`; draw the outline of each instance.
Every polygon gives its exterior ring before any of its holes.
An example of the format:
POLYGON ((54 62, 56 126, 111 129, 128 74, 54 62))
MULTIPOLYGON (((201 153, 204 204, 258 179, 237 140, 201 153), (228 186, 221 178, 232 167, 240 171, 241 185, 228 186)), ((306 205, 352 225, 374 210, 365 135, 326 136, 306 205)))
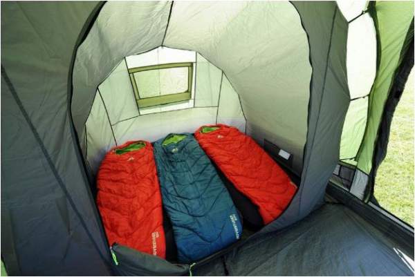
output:
POLYGON ((239 239, 237 209, 193 135, 170 134, 158 140, 154 157, 179 262, 200 260, 239 239))

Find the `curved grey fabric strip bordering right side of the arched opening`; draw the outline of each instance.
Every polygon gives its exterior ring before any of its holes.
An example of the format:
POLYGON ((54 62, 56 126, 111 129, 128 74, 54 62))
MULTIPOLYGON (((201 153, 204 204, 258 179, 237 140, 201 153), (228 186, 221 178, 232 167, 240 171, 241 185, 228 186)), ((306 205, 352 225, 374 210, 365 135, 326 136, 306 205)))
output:
POLYGON ((349 106, 346 19, 335 2, 295 1, 293 5, 308 35, 313 66, 307 142, 299 191, 264 232, 291 225, 322 204, 327 180, 339 160, 340 136, 349 106))

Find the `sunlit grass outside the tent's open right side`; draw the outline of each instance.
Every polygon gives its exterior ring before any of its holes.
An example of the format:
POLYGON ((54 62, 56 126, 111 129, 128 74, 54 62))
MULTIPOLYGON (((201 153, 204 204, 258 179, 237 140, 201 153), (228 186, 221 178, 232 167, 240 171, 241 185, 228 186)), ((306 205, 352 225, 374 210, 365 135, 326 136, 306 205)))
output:
POLYGON ((381 207, 414 226, 414 70, 392 119, 374 195, 381 207))

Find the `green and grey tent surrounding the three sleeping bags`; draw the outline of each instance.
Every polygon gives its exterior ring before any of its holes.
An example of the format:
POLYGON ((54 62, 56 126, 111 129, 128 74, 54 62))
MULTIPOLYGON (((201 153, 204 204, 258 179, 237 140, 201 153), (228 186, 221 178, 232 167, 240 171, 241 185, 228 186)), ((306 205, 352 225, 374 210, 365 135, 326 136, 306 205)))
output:
POLYGON ((1 3, 1 258, 10 275, 413 275, 376 169, 414 64, 412 1, 1 3), (110 251, 112 146, 236 126, 297 180, 279 218, 176 265, 110 251))

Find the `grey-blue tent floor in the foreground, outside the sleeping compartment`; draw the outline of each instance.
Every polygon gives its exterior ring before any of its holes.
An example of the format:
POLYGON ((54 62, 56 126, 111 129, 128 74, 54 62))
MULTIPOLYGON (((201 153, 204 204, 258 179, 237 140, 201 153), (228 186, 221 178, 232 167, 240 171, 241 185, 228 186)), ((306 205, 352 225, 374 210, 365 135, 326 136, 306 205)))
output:
POLYGON ((342 204, 194 268, 205 276, 414 276, 398 245, 342 204))

